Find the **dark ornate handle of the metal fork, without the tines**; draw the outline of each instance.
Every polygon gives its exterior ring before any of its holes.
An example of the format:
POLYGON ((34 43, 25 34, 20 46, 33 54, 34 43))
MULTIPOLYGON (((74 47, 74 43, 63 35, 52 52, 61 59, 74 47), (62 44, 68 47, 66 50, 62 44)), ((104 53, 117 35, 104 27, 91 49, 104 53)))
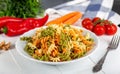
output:
POLYGON ((109 49, 107 49, 106 53, 104 56, 98 61, 98 63, 93 67, 93 72, 98 72, 102 69, 103 63, 105 61, 105 58, 109 52, 109 49))

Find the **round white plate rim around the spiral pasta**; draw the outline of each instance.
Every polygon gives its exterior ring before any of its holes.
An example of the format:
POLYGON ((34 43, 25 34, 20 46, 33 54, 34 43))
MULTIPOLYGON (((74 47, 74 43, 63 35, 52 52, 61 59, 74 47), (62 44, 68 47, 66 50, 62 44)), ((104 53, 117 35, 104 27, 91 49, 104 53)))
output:
MULTIPOLYGON (((28 55, 28 53, 26 53, 24 51, 26 42, 25 41, 21 41, 20 38, 18 38, 18 40, 15 43, 16 49, 17 49, 18 53, 20 53, 23 57, 29 59, 29 61, 45 63, 45 64, 49 64, 49 65, 60 65, 60 64, 66 64, 66 63, 73 63, 73 62, 76 62, 76 61, 81 61, 83 58, 86 58, 86 57, 90 56, 90 54, 92 54, 93 51, 97 49, 99 41, 98 41, 98 37, 94 33, 92 33, 91 31, 86 30, 86 29, 84 29, 82 27, 78 27, 78 26, 73 26, 73 27, 78 28, 78 29, 82 29, 83 33, 85 33, 85 34, 86 33, 90 33, 90 36, 94 39, 94 42, 95 42, 95 45, 94 45, 93 49, 90 50, 85 56, 83 56, 83 57, 81 57, 79 59, 75 59, 75 60, 71 60, 71 61, 65 61, 65 62, 46 62, 46 61, 40 61, 40 60, 34 59, 30 55, 28 55)), ((46 26, 43 26, 41 28, 46 28, 46 26)), ((38 28, 30 30, 30 31, 24 33, 21 37, 23 37, 23 36, 32 36, 32 35, 35 34, 35 31, 37 29, 38 28)))

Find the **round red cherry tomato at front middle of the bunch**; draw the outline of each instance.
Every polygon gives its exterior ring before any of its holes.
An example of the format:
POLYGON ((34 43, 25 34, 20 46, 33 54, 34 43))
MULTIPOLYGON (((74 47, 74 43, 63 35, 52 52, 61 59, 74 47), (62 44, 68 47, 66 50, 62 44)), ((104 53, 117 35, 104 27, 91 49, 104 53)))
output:
POLYGON ((94 26, 93 32, 98 36, 103 35, 105 34, 105 27, 103 25, 97 24, 94 26))

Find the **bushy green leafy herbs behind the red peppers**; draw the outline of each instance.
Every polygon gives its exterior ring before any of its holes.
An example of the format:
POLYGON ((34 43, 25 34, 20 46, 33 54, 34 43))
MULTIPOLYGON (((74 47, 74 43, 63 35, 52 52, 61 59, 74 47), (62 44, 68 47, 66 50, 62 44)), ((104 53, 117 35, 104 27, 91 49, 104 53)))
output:
POLYGON ((43 11, 41 0, 0 0, 0 17, 36 17, 43 11))

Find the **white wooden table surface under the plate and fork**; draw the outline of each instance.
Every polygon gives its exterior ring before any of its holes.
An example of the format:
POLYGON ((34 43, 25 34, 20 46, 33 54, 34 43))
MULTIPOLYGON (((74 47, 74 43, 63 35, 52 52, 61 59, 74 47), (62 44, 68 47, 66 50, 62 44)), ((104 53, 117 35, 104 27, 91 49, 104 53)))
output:
MULTIPOLYGON (((115 15, 110 20, 115 24, 119 24, 120 16, 115 15)), ((117 34, 120 35, 120 28, 118 28, 117 34)), ((4 34, 0 35, 0 41, 10 41, 13 45, 11 50, 0 54, 0 74, 94 74, 92 68, 106 52, 112 36, 100 36, 99 47, 90 57, 76 63, 59 66, 36 63, 22 57, 14 47, 17 38, 19 36, 7 37, 4 34)), ((109 52, 103 69, 95 74, 120 74, 120 45, 116 50, 109 52)))

